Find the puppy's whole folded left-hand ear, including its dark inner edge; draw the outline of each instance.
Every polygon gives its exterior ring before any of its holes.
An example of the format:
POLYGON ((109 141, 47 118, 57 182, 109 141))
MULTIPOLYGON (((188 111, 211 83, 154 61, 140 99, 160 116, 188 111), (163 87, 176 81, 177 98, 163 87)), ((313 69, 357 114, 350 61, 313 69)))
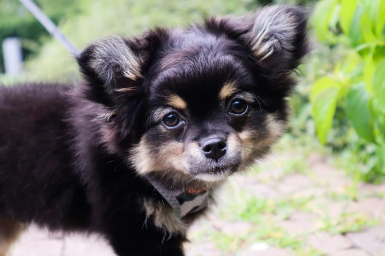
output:
POLYGON ((150 30, 139 38, 113 36, 90 44, 76 59, 90 100, 116 107, 141 83, 165 31, 150 30))

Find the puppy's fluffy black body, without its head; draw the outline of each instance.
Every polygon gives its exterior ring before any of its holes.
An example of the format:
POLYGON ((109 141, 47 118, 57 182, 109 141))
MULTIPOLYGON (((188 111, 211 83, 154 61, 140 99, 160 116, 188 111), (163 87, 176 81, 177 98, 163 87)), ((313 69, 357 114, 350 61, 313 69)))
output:
POLYGON ((105 153, 92 125, 95 109, 68 99, 70 90, 48 84, 0 90, 0 224, 8 223, 0 226, 0 255, 30 223, 104 234, 118 255, 180 255, 181 235, 162 245, 164 231, 145 223, 145 201, 161 198, 105 153))

